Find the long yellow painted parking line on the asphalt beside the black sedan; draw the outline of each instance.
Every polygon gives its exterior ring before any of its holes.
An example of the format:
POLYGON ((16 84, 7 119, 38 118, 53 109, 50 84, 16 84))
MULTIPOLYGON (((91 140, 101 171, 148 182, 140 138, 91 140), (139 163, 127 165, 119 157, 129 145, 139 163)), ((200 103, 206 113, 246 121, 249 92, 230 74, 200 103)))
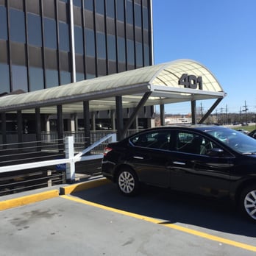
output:
POLYGON ((218 237, 216 235, 209 235, 205 232, 200 232, 200 231, 189 229, 187 227, 178 226, 177 224, 166 224, 164 221, 161 221, 160 219, 157 219, 157 218, 150 218, 150 217, 143 216, 143 215, 136 214, 136 213, 129 213, 129 212, 124 211, 124 210, 118 210, 118 209, 115 209, 115 208, 112 208, 112 207, 99 205, 99 204, 89 202, 89 201, 86 201, 86 200, 83 200, 83 199, 78 199, 74 196, 66 196, 65 195, 65 196, 60 196, 60 197, 62 197, 64 199, 72 200, 74 202, 79 202, 79 203, 82 203, 82 204, 85 204, 85 205, 91 205, 93 207, 99 207, 99 208, 104 209, 104 210, 110 210, 110 211, 113 211, 115 213, 123 214, 125 216, 138 218, 138 219, 141 219, 143 221, 149 221, 149 222, 152 222, 154 224, 161 224, 161 225, 164 225, 165 227, 169 227, 169 228, 172 228, 174 230, 179 230, 179 231, 191 234, 191 235, 196 235, 196 236, 201 237, 201 238, 206 238, 206 239, 211 240, 211 241, 216 241, 218 243, 225 243, 225 244, 235 246, 235 247, 238 247, 238 248, 241 248, 241 249, 246 249, 248 251, 256 252, 256 246, 251 246, 251 245, 246 244, 246 243, 239 243, 239 242, 236 242, 236 241, 232 241, 230 239, 218 237))

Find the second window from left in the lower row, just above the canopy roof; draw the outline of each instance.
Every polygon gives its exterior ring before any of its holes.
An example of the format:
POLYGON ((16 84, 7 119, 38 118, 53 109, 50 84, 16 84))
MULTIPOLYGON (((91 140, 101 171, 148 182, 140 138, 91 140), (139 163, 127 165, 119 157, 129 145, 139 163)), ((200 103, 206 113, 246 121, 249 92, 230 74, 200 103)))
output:
POLYGON ((24 65, 12 65, 13 90, 27 92, 27 71, 24 65))

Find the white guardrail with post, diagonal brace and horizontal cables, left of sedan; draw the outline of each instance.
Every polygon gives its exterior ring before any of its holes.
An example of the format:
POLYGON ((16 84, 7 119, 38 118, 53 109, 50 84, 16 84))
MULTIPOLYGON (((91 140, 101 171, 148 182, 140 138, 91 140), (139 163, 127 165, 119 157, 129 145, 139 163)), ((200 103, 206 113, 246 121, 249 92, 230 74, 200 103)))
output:
POLYGON ((0 145, 0 196, 73 181, 75 163, 102 158, 104 146, 116 136, 106 135, 88 149, 85 140, 68 136, 63 143, 51 136, 46 141, 0 145))

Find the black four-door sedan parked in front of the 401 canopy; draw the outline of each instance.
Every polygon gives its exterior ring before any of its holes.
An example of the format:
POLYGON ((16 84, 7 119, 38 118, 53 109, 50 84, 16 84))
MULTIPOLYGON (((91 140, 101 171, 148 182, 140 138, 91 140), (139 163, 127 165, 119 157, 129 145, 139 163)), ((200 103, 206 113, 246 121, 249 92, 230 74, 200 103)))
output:
POLYGON ((229 197, 256 221, 256 140, 225 127, 158 127, 110 143, 102 174, 121 193, 141 183, 229 197))

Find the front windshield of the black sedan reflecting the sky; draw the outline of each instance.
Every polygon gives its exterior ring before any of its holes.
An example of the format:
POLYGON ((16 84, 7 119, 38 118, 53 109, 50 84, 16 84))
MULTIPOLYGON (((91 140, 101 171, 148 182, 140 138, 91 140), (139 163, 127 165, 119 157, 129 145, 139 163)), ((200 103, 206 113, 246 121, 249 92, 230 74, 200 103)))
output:
POLYGON ((256 140, 242 132, 228 128, 211 129, 205 132, 218 139, 218 141, 227 144, 227 146, 235 150, 235 152, 256 154, 256 140))

